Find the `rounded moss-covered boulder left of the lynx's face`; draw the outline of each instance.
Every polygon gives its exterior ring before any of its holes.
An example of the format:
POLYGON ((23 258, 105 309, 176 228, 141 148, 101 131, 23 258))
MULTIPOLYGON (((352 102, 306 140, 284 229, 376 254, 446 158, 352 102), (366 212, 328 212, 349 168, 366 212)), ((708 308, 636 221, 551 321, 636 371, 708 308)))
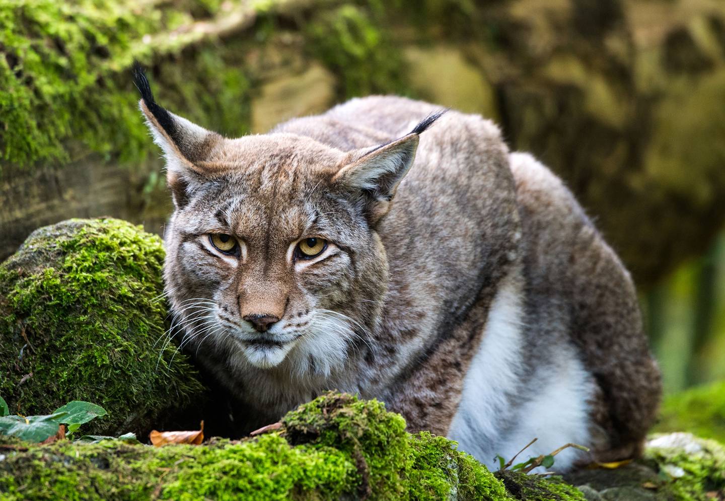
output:
POLYGON ((0 265, 0 395, 11 413, 86 400, 108 415, 83 431, 114 434, 202 399, 165 334, 163 260, 159 237, 94 219, 40 228, 0 265))

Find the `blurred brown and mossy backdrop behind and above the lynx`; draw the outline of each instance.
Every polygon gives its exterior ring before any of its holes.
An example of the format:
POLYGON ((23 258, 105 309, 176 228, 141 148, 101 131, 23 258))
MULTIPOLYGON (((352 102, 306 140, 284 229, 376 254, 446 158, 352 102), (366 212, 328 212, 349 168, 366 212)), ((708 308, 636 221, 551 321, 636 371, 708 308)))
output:
POLYGON ((718 0, 51 0, 4 5, 0 254, 38 226, 169 205, 128 67, 231 136, 351 96, 479 112, 568 186, 642 288, 725 215, 718 0))

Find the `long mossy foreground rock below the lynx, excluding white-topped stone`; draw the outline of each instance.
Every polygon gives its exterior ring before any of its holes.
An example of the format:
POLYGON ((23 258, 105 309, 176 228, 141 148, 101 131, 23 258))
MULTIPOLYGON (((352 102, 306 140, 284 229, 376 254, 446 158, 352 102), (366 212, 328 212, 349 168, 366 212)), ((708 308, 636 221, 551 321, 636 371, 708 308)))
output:
MULTIPOLYGON (((236 442, 149 447, 0 439, 0 452, 0 499, 7 501, 523 499, 455 442, 409 434, 381 402, 347 394, 324 394, 286 415, 275 431, 236 442)), ((551 494, 562 492, 560 481, 528 478, 542 495, 526 499, 584 499, 551 494)))

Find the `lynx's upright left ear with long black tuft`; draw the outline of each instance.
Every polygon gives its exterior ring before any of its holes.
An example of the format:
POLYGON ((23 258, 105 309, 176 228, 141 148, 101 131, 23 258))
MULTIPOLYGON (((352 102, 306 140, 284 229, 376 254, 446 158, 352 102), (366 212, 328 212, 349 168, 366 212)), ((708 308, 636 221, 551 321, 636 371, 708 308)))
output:
POLYGON ((159 106, 154 101, 149 80, 138 62, 133 65, 133 83, 141 92, 138 107, 146 117, 154 142, 164 152, 166 178, 174 204, 183 207, 194 189, 218 173, 218 169, 204 165, 204 162, 209 159, 212 148, 223 141, 223 137, 159 106))

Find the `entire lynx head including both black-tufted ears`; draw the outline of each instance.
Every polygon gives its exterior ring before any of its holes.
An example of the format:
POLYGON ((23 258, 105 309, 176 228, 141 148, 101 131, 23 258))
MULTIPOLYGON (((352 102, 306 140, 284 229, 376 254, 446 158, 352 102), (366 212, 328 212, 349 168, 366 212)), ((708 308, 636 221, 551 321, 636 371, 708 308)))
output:
POLYGON ((341 368, 380 315, 376 227, 437 116, 352 152, 284 133, 229 139, 160 107, 135 77, 173 194, 165 281, 183 344, 239 370, 341 368))

